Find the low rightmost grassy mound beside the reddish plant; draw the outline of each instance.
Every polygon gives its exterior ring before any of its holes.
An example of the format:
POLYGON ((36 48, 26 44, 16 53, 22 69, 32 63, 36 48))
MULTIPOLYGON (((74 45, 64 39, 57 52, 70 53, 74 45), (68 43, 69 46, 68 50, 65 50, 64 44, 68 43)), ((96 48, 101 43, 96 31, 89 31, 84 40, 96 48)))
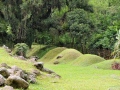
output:
POLYGON ((111 59, 111 60, 106 60, 97 64, 92 65, 91 67, 95 67, 98 69, 113 69, 112 65, 115 63, 119 63, 120 64, 120 59, 111 59))

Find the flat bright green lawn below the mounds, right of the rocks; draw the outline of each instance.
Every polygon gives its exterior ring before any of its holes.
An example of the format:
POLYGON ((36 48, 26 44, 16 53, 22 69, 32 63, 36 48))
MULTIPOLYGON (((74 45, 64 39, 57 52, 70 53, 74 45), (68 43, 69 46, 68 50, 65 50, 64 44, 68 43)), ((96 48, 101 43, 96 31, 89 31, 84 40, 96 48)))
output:
POLYGON ((30 86, 33 90, 108 90, 110 87, 120 86, 120 72, 117 70, 102 70, 68 64, 46 64, 45 66, 54 70, 62 78, 57 80, 57 83, 53 83, 56 79, 38 78, 38 85, 30 86))

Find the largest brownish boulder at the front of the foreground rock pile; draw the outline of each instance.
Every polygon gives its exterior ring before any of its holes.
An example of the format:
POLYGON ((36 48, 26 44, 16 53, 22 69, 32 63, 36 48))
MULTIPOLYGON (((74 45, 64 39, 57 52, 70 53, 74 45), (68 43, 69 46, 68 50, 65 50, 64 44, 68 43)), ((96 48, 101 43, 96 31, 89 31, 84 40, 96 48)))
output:
POLYGON ((27 89, 29 87, 28 82, 16 75, 9 76, 5 83, 6 85, 12 86, 14 88, 27 89))

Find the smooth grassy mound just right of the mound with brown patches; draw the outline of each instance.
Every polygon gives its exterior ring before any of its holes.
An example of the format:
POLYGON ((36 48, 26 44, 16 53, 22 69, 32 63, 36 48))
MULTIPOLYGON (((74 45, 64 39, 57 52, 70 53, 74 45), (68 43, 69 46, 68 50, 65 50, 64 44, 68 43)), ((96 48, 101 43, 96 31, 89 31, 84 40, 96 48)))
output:
POLYGON ((80 57, 78 57, 74 62, 72 62, 73 65, 77 66, 89 66, 95 63, 99 63, 104 61, 105 59, 97 56, 97 55, 91 55, 91 54, 84 54, 80 57))

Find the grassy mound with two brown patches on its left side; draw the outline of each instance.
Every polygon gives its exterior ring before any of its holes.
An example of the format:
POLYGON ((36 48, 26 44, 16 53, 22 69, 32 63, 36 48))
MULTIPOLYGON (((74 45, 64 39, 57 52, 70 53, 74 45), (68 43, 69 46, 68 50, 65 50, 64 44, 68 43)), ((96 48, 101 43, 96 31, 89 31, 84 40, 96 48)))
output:
POLYGON ((57 61, 59 63, 68 63, 70 61, 75 60, 81 55, 82 53, 80 53, 79 51, 75 49, 66 49, 62 51, 61 53, 59 53, 56 57, 54 57, 54 59, 51 62, 54 63, 57 61))

